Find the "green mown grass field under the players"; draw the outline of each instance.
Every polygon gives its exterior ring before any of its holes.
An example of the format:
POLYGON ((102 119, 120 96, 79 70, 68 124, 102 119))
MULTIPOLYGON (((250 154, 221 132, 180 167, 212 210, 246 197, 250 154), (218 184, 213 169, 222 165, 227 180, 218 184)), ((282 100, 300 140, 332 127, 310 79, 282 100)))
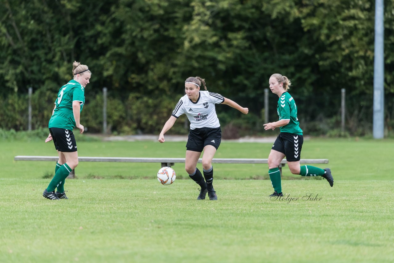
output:
MULTIPOLYGON (((184 144, 80 142, 78 152, 184 157, 184 144)), ((66 181, 69 200, 46 200, 43 176, 54 164, 13 156, 54 155, 53 145, 0 146, 0 262, 394 261, 394 140, 306 140, 302 158, 329 159, 335 185, 283 180, 282 200, 268 198, 269 180, 224 179, 264 178, 267 165, 216 164, 218 201, 195 200, 198 185, 183 164, 174 166, 177 181, 162 186, 160 164, 85 162, 66 181)), ((223 143, 216 157, 267 158, 271 146, 223 143)))

